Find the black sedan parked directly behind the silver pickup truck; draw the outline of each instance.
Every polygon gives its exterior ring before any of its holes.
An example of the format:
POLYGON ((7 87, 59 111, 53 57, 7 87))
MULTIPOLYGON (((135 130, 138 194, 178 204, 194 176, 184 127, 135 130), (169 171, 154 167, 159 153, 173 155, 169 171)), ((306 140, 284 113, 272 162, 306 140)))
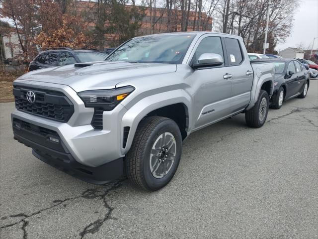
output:
POLYGON ((295 59, 271 60, 275 64, 274 93, 270 107, 280 109, 284 101, 305 98, 309 89, 309 74, 295 59))

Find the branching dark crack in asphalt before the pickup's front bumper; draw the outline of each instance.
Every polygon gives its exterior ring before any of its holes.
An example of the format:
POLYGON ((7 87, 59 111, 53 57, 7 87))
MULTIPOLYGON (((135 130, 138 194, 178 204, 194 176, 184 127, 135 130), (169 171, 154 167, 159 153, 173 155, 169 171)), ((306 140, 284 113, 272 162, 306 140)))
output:
MULTIPOLYGON (((54 200, 53 203, 56 203, 53 206, 41 209, 37 212, 31 213, 31 214, 25 214, 25 213, 19 213, 19 214, 15 214, 15 215, 10 215, 9 217, 11 218, 17 218, 17 217, 22 217, 21 220, 15 222, 15 223, 11 223, 11 224, 7 224, 4 225, 2 227, 0 227, 0 229, 4 229, 4 228, 9 228, 12 227, 14 225, 17 225, 19 223, 23 223, 21 230, 23 231, 23 239, 27 239, 27 232, 26 232, 26 228, 29 225, 29 221, 27 221, 26 219, 31 218, 35 215, 41 214, 44 211, 50 210, 52 208, 55 208, 59 205, 61 205, 62 203, 66 202, 66 201, 70 201, 70 200, 75 200, 78 198, 84 198, 84 199, 95 199, 95 198, 100 198, 103 200, 103 206, 107 209, 107 213, 105 214, 105 216, 102 219, 97 219, 95 222, 88 224, 82 232, 79 233, 80 238, 82 239, 86 234, 91 233, 94 234, 97 231, 99 231, 99 228, 102 226, 102 224, 109 220, 109 219, 115 219, 115 218, 111 218, 111 213, 114 210, 113 207, 110 207, 107 200, 106 200, 106 196, 109 194, 109 192, 118 189, 122 184, 123 181, 125 181, 126 179, 121 179, 118 180, 116 182, 114 182, 112 184, 111 187, 109 187, 108 189, 106 189, 103 193, 98 193, 98 189, 87 189, 84 192, 82 192, 82 194, 80 196, 76 196, 76 197, 70 197, 70 198, 66 198, 66 199, 61 199, 61 200, 54 200), (92 227, 93 226, 93 227, 92 227)), ((108 186, 108 185, 106 185, 108 186)), ((116 220, 116 219, 115 219, 116 220)))

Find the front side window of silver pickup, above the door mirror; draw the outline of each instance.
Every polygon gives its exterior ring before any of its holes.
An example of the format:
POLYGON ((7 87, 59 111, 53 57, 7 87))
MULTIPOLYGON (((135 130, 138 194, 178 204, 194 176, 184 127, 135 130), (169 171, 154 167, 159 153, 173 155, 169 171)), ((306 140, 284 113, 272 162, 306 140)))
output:
MULTIPOLYGON (((198 58, 203 54, 203 53, 215 53, 219 54, 222 56, 223 61, 224 61, 224 55, 223 55, 223 47, 222 47, 222 42, 221 38, 218 36, 208 36, 204 38, 198 45, 197 49, 195 50, 195 53, 192 58, 192 63, 197 64, 198 63, 198 58)), ((224 66, 224 63, 222 64, 224 66)))

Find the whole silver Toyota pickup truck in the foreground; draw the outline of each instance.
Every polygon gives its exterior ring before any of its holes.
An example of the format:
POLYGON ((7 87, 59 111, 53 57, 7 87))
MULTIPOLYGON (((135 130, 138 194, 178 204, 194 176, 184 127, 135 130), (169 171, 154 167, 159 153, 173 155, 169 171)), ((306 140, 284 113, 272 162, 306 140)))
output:
POLYGON ((251 64, 239 36, 136 37, 105 61, 15 80, 14 138, 85 181, 127 175, 145 190, 158 190, 176 172, 191 132, 239 113, 251 127, 264 124, 274 71, 272 63, 251 64))

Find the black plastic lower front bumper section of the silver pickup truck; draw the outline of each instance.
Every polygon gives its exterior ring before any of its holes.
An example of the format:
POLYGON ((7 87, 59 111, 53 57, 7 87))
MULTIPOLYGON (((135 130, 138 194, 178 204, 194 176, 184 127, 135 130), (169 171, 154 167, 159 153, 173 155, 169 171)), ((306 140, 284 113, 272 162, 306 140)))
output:
POLYGON ((112 160, 98 167, 77 162, 54 130, 13 118, 14 139, 31 147, 35 157, 72 176, 89 183, 107 183, 123 176, 123 158, 112 160))

